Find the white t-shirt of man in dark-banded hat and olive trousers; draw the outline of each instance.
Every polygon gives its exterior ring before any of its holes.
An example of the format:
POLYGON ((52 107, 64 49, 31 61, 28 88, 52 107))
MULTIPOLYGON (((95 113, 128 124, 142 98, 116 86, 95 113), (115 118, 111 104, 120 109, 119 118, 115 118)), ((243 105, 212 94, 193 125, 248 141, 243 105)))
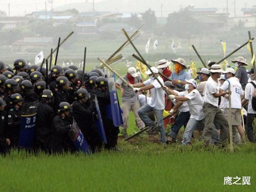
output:
POLYGON ((214 97, 214 94, 219 93, 219 89, 219 82, 209 77, 205 85, 204 102, 210 103, 218 108, 219 98, 214 97))

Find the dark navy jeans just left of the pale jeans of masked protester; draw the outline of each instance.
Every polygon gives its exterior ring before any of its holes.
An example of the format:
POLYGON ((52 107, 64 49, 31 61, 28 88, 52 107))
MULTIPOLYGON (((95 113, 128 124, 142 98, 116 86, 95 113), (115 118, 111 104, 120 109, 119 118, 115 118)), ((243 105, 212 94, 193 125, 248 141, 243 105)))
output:
POLYGON ((184 125, 184 128, 189 120, 190 113, 188 112, 180 112, 178 117, 175 119, 175 123, 172 126, 172 132, 170 132, 169 136, 173 139, 176 139, 181 127, 184 125))

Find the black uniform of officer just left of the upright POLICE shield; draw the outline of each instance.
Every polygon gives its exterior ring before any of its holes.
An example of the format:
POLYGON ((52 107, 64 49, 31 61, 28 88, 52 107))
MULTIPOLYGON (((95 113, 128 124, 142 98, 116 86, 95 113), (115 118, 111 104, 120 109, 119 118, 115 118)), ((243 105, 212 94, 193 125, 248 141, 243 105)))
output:
POLYGON ((18 146, 21 115, 22 115, 22 110, 17 109, 14 106, 7 113, 8 133, 9 133, 8 135, 10 137, 12 147, 18 146))

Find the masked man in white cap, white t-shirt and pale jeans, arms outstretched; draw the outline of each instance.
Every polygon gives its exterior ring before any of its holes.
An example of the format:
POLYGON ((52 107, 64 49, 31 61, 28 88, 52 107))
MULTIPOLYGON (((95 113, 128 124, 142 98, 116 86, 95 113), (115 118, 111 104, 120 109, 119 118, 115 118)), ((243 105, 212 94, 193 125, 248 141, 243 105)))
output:
POLYGON ((187 83, 185 85, 185 90, 183 92, 175 93, 171 92, 174 95, 169 95, 170 99, 176 99, 178 101, 187 101, 190 118, 187 122, 182 144, 187 145, 191 141, 191 137, 193 131, 197 124, 203 123, 204 124, 204 113, 203 113, 203 99, 200 93, 196 90, 197 88, 197 81, 194 79, 185 80, 187 83))

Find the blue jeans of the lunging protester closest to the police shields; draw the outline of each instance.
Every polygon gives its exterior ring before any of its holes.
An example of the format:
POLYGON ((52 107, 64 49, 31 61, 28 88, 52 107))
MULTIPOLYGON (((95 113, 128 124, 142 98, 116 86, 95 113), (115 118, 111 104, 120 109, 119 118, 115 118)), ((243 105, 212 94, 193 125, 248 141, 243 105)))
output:
POLYGON ((138 114, 141 120, 145 123, 145 126, 155 125, 155 122, 152 121, 147 115, 147 113, 151 111, 153 111, 157 119, 158 129, 161 134, 160 141, 166 142, 167 140, 165 137, 165 130, 163 126, 163 110, 156 110, 152 108, 152 106, 150 106, 149 104, 145 104, 139 109, 138 114))

